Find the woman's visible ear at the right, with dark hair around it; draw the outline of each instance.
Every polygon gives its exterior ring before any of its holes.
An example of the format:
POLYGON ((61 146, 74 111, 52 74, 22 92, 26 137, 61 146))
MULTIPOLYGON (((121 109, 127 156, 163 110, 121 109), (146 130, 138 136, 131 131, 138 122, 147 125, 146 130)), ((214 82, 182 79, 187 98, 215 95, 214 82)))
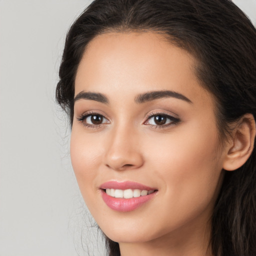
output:
POLYGON ((244 114, 232 132, 223 161, 223 169, 235 170, 249 158, 255 140, 255 120, 252 114, 244 114))

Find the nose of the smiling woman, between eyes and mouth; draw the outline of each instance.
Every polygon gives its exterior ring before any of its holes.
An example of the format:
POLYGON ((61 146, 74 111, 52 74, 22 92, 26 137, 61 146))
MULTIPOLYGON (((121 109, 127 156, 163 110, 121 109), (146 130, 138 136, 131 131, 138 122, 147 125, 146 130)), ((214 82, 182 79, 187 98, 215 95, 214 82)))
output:
POLYGON ((119 127, 108 134, 104 164, 114 170, 135 169, 143 165, 139 135, 128 127, 119 127))

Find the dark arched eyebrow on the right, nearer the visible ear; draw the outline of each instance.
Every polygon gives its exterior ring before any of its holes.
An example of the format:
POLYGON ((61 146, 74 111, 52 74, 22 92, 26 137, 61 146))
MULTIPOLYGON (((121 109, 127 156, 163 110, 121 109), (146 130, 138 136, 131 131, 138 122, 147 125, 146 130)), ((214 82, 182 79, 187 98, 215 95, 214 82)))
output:
POLYGON ((167 98, 167 97, 174 97, 177 99, 182 99, 184 101, 187 101, 188 103, 192 103, 192 101, 184 96, 183 94, 180 94, 178 92, 172 91, 172 90, 156 90, 156 91, 148 91, 146 93, 139 94, 135 97, 136 103, 144 103, 147 101, 151 101, 158 98, 167 98))

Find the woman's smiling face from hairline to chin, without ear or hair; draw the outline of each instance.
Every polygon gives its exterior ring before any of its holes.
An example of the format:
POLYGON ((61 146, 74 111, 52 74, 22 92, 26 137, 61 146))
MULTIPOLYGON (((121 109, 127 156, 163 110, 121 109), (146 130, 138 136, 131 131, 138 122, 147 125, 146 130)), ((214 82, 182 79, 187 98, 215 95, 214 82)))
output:
POLYGON ((149 32, 106 33, 86 47, 71 161, 88 209, 114 241, 208 230, 224 153, 213 97, 195 66, 192 55, 149 32))

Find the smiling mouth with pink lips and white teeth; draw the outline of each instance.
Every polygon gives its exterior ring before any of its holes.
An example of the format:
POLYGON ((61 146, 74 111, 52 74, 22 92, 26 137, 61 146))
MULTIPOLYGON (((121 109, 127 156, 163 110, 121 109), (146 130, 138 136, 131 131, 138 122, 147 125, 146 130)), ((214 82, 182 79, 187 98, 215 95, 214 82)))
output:
POLYGON ((133 181, 108 181, 100 186, 105 204, 115 211, 132 211, 150 201, 157 189, 133 181))

